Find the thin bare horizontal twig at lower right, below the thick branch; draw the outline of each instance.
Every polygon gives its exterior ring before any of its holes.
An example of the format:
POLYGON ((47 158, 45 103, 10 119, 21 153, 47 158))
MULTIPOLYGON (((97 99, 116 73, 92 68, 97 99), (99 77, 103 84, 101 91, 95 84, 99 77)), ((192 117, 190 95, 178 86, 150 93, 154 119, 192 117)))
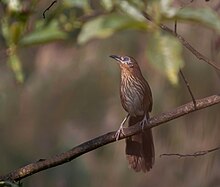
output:
POLYGON ((208 150, 205 150, 205 151, 197 151, 197 152, 192 153, 192 154, 164 153, 164 154, 161 154, 160 157, 163 157, 163 156, 177 156, 179 158, 183 158, 183 157, 197 157, 197 156, 206 155, 208 153, 212 153, 212 152, 217 151, 219 149, 220 149, 220 147, 215 147, 213 149, 208 149, 208 150))

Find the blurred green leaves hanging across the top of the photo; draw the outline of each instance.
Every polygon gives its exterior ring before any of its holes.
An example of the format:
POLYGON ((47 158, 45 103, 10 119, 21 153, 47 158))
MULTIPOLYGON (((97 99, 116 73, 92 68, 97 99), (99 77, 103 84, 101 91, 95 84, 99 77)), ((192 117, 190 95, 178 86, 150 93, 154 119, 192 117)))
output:
POLYGON ((51 43, 57 40, 73 40, 85 45, 92 39, 105 39, 116 32, 135 29, 146 32, 149 61, 173 84, 178 83, 178 72, 183 67, 182 46, 178 40, 145 20, 143 11, 150 14, 156 23, 164 20, 196 22, 220 32, 220 19, 208 8, 192 9, 172 6, 172 0, 64 0, 54 4, 47 12, 33 19, 35 1, 28 4, 20 0, 2 1, 5 13, 1 21, 2 37, 8 48, 8 64, 18 82, 24 81, 22 62, 18 49, 51 43), (25 7, 26 5, 26 7, 25 7), (31 29, 30 28, 31 25, 31 29))

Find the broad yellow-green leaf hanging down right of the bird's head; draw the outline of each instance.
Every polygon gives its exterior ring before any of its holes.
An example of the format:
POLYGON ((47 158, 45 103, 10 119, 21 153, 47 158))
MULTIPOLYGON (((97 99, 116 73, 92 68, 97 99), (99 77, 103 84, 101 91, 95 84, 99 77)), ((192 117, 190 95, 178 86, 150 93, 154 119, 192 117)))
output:
POLYGON ((180 43, 170 35, 156 32, 149 40, 147 58, 164 73, 172 84, 178 83, 178 73, 183 67, 180 43))

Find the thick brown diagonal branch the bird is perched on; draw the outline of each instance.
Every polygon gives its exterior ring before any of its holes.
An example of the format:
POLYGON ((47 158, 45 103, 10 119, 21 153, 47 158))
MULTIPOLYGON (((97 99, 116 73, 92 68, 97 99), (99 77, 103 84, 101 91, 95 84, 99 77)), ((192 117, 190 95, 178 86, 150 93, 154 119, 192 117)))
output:
MULTIPOLYGON (((187 103, 176 109, 173 109, 170 112, 165 112, 160 115, 151 117, 149 119, 148 125, 145 126, 144 129, 159 126, 163 123, 174 120, 188 113, 192 113, 194 111, 197 111, 197 110, 200 110, 206 107, 210 107, 218 103, 220 103, 220 94, 212 95, 212 96, 209 96, 203 99, 196 100, 196 108, 194 107, 193 102, 187 103)), ((131 126, 129 128, 124 129, 124 135, 121 135, 119 139, 124 139, 131 135, 140 133, 141 131, 142 131, 142 126, 140 125, 131 126)), ((115 132, 109 132, 107 134, 94 138, 90 141, 82 143, 67 152, 52 156, 51 158, 48 158, 48 159, 43 159, 43 160, 41 159, 37 162, 33 162, 19 169, 16 169, 6 175, 0 176, 0 181, 1 180, 19 181, 22 178, 28 177, 42 170, 46 170, 48 168, 52 168, 52 167, 67 163, 79 157, 80 155, 83 155, 94 149, 97 149, 99 147, 102 147, 106 144, 109 144, 115 141, 116 141, 115 132)))

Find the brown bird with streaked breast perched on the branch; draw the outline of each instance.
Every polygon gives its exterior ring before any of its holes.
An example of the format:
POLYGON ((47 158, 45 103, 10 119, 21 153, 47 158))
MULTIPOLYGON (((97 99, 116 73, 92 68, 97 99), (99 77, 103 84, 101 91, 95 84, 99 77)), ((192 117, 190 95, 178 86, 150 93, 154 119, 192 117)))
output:
MULTIPOLYGON (((116 132, 116 140, 124 134, 123 126, 148 124, 153 99, 149 84, 144 79, 137 61, 131 56, 110 55, 120 67, 120 99, 124 110, 128 113, 116 132)), ((155 150, 151 128, 126 138, 126 157, 130 168, 136 172, 150 171, 155 161, 155 150)))

